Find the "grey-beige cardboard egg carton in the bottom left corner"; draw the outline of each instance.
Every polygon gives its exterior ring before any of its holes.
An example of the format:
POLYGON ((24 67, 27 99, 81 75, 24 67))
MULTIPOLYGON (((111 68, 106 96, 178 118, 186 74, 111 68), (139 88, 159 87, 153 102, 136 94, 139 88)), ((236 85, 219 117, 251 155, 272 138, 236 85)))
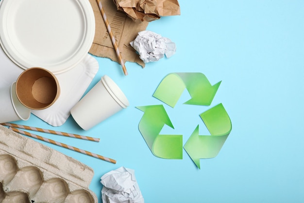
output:
POLYGON ((98 203, 89 166, 0 125, 0 203, 98 203))

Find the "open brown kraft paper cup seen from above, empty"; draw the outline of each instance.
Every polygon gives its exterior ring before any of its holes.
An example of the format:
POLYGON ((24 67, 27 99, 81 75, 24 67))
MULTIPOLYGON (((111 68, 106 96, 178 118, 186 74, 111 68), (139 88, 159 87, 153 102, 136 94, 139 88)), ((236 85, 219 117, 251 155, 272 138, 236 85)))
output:
POLYGON ((42 110, 50 107, 60 95, 60 86, 50 71, 34 67, 23 71, 16 82, 18 100, 25 107, 42 110))

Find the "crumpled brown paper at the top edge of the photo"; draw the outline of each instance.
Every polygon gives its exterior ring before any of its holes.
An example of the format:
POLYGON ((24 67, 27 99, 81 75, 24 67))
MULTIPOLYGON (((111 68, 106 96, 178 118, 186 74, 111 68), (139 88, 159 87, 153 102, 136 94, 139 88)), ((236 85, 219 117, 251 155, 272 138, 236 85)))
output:
POLYGON ((133 20, 148 21, 161 16, 180 15, 177 0, 113 0, 117 10, 125 12, 133 20))

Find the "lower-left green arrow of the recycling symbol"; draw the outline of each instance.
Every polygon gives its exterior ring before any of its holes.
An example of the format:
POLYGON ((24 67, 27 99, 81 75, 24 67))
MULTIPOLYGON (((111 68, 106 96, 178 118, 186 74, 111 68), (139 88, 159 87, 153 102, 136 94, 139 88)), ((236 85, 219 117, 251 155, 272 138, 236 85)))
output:
POLYGON ((163 105, 136 107, 144 111, 138 129, 150 150, 159 158, 183 159, 183 135, 160 135, 164 125, 173 128, 163 105))

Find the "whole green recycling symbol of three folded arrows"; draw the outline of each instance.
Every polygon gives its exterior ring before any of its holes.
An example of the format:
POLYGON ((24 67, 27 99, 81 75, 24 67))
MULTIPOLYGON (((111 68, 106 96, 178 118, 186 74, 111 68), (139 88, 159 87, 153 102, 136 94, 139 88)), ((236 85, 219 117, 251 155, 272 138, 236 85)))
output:
MULTIPOLYGON (((184 104, 210 106, 220 83, 212 86, 202 73, 171 73, 161 81, 153 96, 174 108, 186 89, 191 99, 184 104)), ((160 134, 164 125, 174 129, 164 106, 136 108, 144 111, 138 129, 153 155, 165 159, 183 159, 183 135, 160 134)), ((198 168, 200 159, 214 158, 218 155, 232 129, 229 115, 221 103, 204 111, 200 117, 210 135, 199 135, 198 125, 184 145, 198 168)))

